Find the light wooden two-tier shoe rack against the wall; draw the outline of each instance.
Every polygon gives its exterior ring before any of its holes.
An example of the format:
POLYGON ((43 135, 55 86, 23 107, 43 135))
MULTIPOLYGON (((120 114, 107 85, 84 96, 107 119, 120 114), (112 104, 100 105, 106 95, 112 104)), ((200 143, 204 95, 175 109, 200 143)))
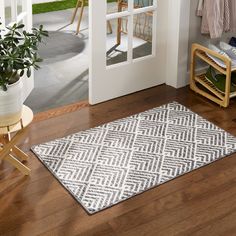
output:
POLYGON ((222 107, 228 107, 230 98, 236 97, 236 92, 231 93, 231 73, 236 71, 236 68, 231 68, 231 60, 222 56, 215 51, 210 50, 199 44, 192 45, 191 51, 191 78, 190 78, 190 88, 195 91, 196 93, 210 99, 211 101, 219 104, 222 107), (214 62, 210 57, 207 56, 212 55, 225 63, 226 68, 219 66, 216 62, 214 62), (212 66, 220 73, 226 75, 226 86, 225 92, 220 92, 217 88, 210 83, 205 78, 205 73, 197 74, 196 73, 196 59, 199 58, 206 62, 209 66, 212 66), (201 84, 205 89, 201 89, 198 84, 201 84), (209 91, 209 92, 208 92, 209 91))

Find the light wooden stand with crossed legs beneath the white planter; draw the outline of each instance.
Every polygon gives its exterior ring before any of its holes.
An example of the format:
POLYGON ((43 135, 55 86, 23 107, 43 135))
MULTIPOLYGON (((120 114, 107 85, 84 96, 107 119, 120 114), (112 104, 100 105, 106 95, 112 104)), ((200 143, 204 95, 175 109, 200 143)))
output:
POLYGON ((9 162, 24 175, 30 173, 30 169, 22 163, 28 159, 28 155, 20 150, 16 144, 26 135, 33 117, 31 109, 23 106, 22 118, 17 124, 0 127, 0 160, 9 162), (13 133, 14 136, 12 136, 13 133))

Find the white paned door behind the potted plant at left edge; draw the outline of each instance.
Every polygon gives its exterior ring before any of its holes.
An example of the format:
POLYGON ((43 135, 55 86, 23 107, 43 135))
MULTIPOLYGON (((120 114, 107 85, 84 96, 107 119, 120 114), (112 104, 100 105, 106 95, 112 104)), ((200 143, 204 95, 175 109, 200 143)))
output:
MULTIPOLYGON (((0 21, 2 28, 14 23, 23 23, 25 30, 32 29, 32 0, 0 0, 0 21)), ((7 32, 7 30, 5 31, 7 32)), ((23 77, 24 98, 26 99, 34 88, 34 75, 23 77)))

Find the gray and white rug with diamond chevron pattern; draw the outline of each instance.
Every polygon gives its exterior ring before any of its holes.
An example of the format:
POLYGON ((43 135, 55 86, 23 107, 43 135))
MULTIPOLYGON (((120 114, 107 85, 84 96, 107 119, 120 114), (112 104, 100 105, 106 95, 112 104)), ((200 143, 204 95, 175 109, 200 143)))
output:
POLYGON ((93 214, 236 151, 236 138, 179 103, 32 148, 93 214))

